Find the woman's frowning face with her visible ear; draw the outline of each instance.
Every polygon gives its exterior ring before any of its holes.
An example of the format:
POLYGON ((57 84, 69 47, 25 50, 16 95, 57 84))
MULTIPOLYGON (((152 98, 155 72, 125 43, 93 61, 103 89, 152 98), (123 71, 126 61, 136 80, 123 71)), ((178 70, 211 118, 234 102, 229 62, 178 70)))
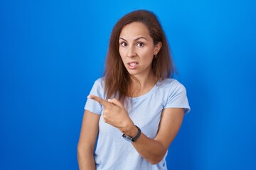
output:
POLYGON ((130 23, 119 36, 119 54, 129 74, 134 76, 149 76, 151 63, 159 50, 161 42, 154 45, 149 30, 143 23, 130 23))

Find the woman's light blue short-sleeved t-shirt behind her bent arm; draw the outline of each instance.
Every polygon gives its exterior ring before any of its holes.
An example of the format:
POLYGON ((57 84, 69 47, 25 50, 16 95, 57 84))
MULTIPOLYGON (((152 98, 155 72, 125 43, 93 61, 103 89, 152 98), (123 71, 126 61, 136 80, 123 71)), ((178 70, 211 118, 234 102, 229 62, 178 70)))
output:
MULTIPOLYGON (((104 90, 105 78, 95 81, 90 94, 107 99, 104 90)), ((129 102, 130 103, 130 102, 129 102)), ((129 117, 144 135, 154 139, 156 137, 161 112, 164 108, 184 108, 185 113, 190 111, 186 89, 175 79, 158 81, 146 94, 132 98, 131 105, 126 106, 129 117)), ((102 115, 100 103, 87 99, 85 110, 102 115)), ((148 170, 167 169, 166 155, 159 164, 150 164, 142 158, 132 143, 122 137, 122 132, 112 125, 104 122, 100 116, 99 136, 95 150, 95 163, 97 170, 148 170)))

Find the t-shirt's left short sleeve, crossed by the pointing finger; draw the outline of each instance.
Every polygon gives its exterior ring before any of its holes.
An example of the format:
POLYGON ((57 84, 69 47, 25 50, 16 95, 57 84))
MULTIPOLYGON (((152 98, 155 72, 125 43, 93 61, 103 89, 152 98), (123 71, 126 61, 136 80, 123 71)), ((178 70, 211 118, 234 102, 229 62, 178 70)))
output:
MULTIPOLYGON (((97 79, 95 81, 90 91, 90 95, 95 95, 95 96, 99 96, 100 98, 105 98, 103 78, 97 79)), ((97 101, 87 98, 87 101, 85 103, 85 110, 90 111, 92 113, 96 113, 97 115, 101 115, 102 105, 100 105, 100 103, 98 103, 97 101)))

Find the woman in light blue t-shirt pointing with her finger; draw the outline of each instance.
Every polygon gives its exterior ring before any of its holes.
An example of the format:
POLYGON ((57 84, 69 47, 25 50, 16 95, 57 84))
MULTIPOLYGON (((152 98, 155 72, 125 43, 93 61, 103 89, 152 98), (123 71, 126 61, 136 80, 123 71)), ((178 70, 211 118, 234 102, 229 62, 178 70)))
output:
POLYGON ((105 77, 95 81, 85 104, 80 169, 167 169, 168 147, 190 110, 186 89, 169 79, 173 73, 154 13, 133 11, 117 22, 105 77))

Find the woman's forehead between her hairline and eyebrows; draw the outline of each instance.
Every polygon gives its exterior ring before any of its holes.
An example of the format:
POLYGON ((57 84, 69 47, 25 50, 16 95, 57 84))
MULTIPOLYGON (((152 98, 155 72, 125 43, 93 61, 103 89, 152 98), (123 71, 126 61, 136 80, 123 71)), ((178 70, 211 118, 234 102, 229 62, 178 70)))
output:
POLYGON ((120 33, 120 38, 136 38, 137 36, 150 37, 149 30, 144 23, 129 23, 122 28, 120 33))

